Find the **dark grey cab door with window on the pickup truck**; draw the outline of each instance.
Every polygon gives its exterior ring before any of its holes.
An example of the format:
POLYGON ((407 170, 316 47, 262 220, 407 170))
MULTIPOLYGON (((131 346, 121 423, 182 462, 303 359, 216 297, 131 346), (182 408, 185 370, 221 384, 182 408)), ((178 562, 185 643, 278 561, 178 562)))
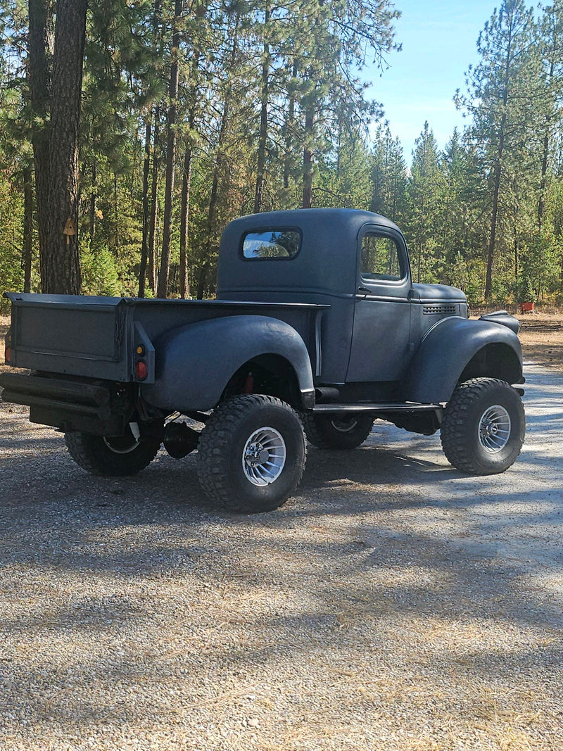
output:
POLYGON ((354 329, 347 382, 398 381, 411 357, 411 270, 405 240, 364 225, 358 235, 354 329))

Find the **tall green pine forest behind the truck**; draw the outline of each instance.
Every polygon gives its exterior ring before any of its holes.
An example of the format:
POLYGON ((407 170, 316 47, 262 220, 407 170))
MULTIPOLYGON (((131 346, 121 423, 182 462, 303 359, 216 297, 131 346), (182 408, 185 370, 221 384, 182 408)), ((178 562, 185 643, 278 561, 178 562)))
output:
POLYGON ((230 219, 354 207, 415 281, 561 305, 563 2, 492 11, 467 125, 442 152, 425 122, 409 163, 363 79, 399 6, 3 0, 0 291, 212 297, 230 219))

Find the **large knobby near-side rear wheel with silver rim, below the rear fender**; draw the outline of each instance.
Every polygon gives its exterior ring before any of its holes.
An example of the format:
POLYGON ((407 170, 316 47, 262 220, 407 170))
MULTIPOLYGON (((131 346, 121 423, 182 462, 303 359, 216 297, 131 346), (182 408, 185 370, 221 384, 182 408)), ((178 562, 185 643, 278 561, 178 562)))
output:
POLYGON ((220 404, 200 436, 197 476, 214 502, 253 514, 283 505, 305 469, 303 425, 275 397, 245 394, 220 404))

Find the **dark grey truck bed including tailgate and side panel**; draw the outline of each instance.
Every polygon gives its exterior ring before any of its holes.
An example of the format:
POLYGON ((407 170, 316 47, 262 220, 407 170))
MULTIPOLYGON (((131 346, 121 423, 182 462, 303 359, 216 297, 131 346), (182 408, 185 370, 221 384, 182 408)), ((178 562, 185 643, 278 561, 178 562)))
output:
MULTIPOLYGON (((162 333, 225 315, 271 315, 293 326, 315 350, 317 313, 327 306, 229 300, 7 293, 12 303, 11 364, 63 375, 130 382, 137 342, 152 348, 162 333)), ((146 383, 154 381, 154 363, 146 383)))

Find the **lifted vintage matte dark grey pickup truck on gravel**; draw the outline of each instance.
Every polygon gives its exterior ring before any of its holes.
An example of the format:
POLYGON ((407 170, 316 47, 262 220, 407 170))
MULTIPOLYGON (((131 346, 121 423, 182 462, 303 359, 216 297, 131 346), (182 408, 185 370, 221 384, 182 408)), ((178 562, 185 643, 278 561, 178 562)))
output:
POLYGON ((227 225, 216 300, 7 293, 5 402, 65 433, 95 475, 197 449, 214 502, 278 508, 306 437, 363 443, 376 419, 441 430, 463 472, 504 472, 525 433, 518 321, 468 318, 465 294, 414 284, 399 228, 375 213, 291 210, 227 225), (203 428, 201 428, 203 426, 203 428))

